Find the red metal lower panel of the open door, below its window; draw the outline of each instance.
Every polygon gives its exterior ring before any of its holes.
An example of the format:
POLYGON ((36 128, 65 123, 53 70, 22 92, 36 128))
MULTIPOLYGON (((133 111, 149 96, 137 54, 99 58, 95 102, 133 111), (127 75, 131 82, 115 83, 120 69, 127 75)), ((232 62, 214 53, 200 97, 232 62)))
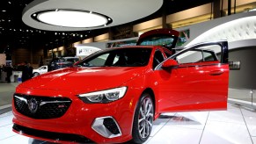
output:
POLYGON ((221 66, 223 76, 210 76, 208 73, 215 67, 177 68, 172 69, 172 74, 156 71, 156 82, 161 87, 157 98, 159 112, 221 110, 226 107, 228 81, 224 79, 229 76, 229 66, 221 66))

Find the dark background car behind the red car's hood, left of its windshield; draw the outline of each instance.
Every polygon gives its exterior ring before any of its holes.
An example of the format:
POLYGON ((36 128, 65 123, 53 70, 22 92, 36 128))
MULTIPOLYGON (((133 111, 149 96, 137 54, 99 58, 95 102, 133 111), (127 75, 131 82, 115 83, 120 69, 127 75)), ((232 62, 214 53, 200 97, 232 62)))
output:
POLYGON ((67 68, 72 66, 75 62, 79 61, 77 57, 58 57, 54 58, 48 64, 48 71, 52 71, 59 68, 67 68))

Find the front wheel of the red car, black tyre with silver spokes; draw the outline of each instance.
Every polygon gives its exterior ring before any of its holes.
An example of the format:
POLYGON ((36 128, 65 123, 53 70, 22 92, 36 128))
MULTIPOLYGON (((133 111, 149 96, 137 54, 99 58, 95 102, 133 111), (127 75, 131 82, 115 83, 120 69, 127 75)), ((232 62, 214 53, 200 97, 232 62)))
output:
POLYGON ((144 93, 135 108, 133 142, 143 143, 149 139, 154 119, 154 103, 150 94, 144 93), (146 111, 145 111, 146 110, 146 111))

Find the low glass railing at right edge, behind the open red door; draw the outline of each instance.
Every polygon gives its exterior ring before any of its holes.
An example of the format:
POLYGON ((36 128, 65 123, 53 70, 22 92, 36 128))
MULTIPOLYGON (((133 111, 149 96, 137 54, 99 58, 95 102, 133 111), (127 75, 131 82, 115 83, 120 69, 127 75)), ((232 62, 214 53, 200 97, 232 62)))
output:
POLYGON ((240 104, 256 111, 256 96, 253 89, 229 88, 229 102, 232 104, 240 104))

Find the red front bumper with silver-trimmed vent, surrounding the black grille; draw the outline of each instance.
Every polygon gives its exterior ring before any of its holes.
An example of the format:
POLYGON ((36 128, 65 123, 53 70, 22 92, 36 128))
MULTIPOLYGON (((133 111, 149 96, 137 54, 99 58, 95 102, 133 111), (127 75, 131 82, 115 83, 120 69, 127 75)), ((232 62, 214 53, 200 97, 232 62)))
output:
MULTIPOLYGON (((17 93, 27 93, 19 89, 17 93)), ((19 113, 13 104, 13 131, 49 141, 86 143, 124 142, 131 139, 135 104, 127 91, 125 97, 109 104, 84 104, 74 92, 60 90, 29 90, 33 96, 65 96, 72 100, 64 115, 56 119, 33 119, 19 113)))

